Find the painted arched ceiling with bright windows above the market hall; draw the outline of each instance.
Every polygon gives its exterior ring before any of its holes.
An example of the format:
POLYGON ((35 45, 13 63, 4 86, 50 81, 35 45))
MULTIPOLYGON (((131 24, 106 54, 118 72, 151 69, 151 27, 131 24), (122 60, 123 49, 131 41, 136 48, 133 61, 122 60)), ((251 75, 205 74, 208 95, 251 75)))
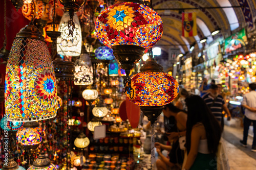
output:
MULTIPOLYGON (((168 45, 177 45, 181 52, 187 52, 189 44, 197 41, 196 48, 202 48, 199 42, 203 37, 208 37, 207 43, 213 38, 210 33, 221 28, 221 34, 228 36, 231 32, 246 28, 247 31, 254 29, 253 22, 256 19, 256 2, 254 0, 154 0, 153 8, 163 20, 164 33, 158 45, 163 45, 167 50, 168 45), (218 8, 185 10, 184 12, 197 13, 197 32, 194 37, 182 37, 182 14, 179 10, 158 10, 169 8, 204 8, 242 6, 243 8, 218 8), (179 45, 181 44, 181 45, 179 45)), ((174 47, 174 46, 172 46, 174 47)))

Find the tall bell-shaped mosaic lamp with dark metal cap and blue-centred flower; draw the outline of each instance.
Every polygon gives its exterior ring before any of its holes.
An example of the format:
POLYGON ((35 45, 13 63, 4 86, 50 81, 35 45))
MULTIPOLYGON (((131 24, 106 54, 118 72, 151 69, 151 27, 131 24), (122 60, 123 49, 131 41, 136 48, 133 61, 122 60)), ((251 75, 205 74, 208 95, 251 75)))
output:
POLYGON ((56 116, 57 84, 45 38, 34 25, 16 35, 5 78, 9 121, 27 122, 56 116))

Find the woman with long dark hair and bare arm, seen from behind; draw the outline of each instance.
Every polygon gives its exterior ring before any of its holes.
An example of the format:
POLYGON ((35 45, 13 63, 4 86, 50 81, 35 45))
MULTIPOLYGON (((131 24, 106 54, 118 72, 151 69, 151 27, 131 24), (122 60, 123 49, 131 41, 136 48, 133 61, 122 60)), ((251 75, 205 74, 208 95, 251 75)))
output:
POLYGON ((217 169, 217 152, 221 127, 204 100, 198 95, 186 99, 186 148, 185 170, 217 169))

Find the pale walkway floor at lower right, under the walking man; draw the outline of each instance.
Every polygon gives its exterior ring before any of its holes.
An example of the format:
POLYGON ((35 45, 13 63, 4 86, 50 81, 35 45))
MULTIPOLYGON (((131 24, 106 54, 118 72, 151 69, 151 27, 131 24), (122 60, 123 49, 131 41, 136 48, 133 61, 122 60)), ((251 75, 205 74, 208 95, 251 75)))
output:
POLYGON ((247 148, 239 144, 243 137, 243 129, 225 126, 223 138, 226 145, 231 170, 255 170, 256 153, 251 152, 252 137, 248 137, 247 148))

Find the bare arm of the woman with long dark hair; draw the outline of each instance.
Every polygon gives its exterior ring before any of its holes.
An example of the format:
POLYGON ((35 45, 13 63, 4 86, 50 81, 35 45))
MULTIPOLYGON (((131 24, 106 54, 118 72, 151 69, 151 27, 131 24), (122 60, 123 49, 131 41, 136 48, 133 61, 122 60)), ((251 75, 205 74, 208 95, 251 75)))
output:
POLYGON ((184 166, 186 170, 190 169, 190 167, 194 164, 197 154, 198 154, 198 147, 200 142, 201 133, 198 133, 200 131, 200 127, 194 127, 191 131, 191 144, 190 144, 190 151, 187 156, 187 161, 184 166))

